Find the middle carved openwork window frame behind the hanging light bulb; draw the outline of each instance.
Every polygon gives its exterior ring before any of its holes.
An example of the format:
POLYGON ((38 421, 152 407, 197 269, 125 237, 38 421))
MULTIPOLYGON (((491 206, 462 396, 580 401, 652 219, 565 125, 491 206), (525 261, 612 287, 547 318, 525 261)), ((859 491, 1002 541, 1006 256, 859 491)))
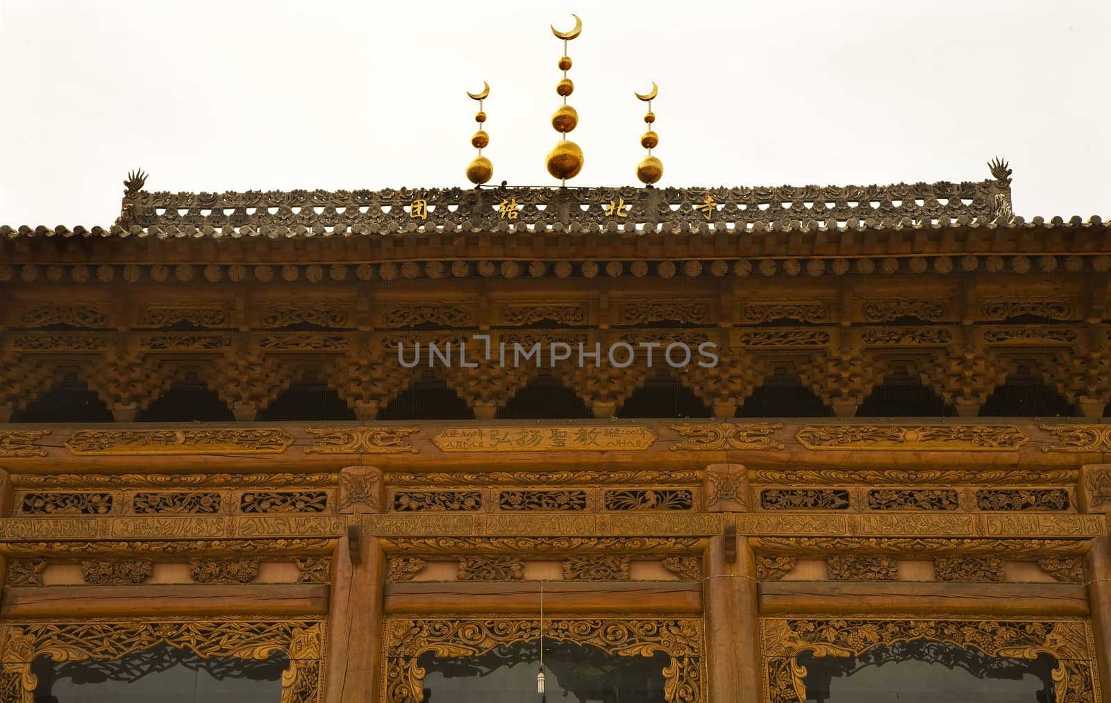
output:
MULTIPOLYGON (((539 620, 513 617, 389 617, 386 620, 383 703, 417 703, 423 695, 422 654, 478 656, 540 637, 539 620)), ((662 671, 668 703, 704 703, 704 633, 699 619, 544 619, 544 640, 592 645, 609 654, 671 662, 662 671)))

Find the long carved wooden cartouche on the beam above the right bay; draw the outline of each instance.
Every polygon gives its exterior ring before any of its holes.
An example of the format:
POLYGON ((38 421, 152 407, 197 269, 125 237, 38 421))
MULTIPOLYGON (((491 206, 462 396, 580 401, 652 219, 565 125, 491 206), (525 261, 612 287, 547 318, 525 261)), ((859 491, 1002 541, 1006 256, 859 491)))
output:
POLYGON ((1030 438, 1013 425, 808 424, 795 434, 810 450, 1018 451, 1030 438))

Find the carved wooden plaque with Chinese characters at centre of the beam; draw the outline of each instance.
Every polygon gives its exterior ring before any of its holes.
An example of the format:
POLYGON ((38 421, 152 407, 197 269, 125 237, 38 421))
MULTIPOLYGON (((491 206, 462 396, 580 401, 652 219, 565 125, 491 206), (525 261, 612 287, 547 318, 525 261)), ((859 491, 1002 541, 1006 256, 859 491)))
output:
POLYGON ((644 425, 458 428, 436 433, 442 452, 644 451, 655 441, 644 425))

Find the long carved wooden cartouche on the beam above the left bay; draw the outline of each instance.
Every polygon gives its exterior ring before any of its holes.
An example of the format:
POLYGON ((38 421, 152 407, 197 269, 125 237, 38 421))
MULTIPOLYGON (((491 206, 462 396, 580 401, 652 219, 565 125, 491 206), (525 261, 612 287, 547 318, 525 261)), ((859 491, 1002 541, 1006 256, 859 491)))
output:
POLYGON ((277 428, 250 430, 78 430, 63 443, 71 454, 280 454, 293 438, 277 428))

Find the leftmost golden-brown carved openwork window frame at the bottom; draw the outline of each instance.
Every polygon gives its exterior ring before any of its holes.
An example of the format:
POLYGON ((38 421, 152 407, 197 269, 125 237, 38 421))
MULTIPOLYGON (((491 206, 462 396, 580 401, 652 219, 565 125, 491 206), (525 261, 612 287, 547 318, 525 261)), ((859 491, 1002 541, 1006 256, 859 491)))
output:
POLYGON ((297 620, 84 620, 0 625, 0 700, 33 703, 38 677, 31 662, 116 661, 159 645, 189 650, 201 659, 262 661, 276 652, 289 659, 281 674, 281 703, 323 701, 324 622, 297 620))

